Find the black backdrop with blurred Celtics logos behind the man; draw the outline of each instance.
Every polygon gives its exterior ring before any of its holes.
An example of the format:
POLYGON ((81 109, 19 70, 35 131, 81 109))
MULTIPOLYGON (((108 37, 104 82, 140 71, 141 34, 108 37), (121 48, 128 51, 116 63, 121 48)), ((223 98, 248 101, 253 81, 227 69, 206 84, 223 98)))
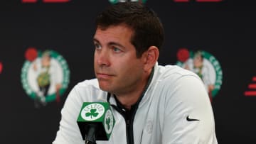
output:
MULTIPOLYGON (((238 0, 144 2, 164 23, 160 65, 193 67, 198 50, 203 55, 206 87, 213 85, 218 142, 256 143, 256 5, 238 0)), ((108 5, 108 0, 1 1, 0 143, 54 140, 68 93, 95 77, 94 20, 108 5), (43 63, 45 56, 50 59, 43 63), (42 72, 55 74, 50 85, 42 72)))

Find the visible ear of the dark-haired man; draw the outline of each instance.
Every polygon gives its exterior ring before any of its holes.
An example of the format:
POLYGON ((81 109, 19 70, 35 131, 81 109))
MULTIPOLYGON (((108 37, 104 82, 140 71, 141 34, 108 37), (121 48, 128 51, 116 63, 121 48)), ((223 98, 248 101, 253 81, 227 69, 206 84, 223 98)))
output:
POLYGON ((151 70, 152 67, 156 64, 159 58, 159 49, 156 46, 150 46, 149 49, 144 52, 144 71, 151 70))

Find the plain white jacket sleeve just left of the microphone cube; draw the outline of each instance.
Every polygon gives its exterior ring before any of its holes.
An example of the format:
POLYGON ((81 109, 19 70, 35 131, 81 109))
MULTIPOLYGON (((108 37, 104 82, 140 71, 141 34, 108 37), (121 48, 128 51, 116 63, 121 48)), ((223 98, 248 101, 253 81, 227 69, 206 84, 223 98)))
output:
POLYGON ((80 135, 77 124, 81 106, 82 101, 79 100, 78 92, 76 92, 74 88, 71 90, 70 94, 68 94, 68 98, 61 110, 60 126, 53 144, 85 143, 85 141, 82 140, 82 135, 80 135))

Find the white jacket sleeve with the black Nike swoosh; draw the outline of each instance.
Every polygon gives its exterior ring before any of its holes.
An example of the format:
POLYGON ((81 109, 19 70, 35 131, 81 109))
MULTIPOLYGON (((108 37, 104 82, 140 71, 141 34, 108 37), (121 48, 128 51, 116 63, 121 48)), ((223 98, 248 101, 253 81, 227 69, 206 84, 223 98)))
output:
POLYGON ((162 143, 218 143, 213 110, 199 77, 184 75, 169 84, 164 112, 162 143))

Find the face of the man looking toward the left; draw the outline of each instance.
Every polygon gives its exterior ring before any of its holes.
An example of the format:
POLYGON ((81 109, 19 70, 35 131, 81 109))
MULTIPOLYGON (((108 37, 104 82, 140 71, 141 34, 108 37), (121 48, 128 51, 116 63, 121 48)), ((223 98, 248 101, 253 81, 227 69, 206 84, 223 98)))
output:
POLYGON ((95 44, 95 76, 100 89, 112 94, 127 94, 142 86, 143 58, 136 57, 130 43, 133 31, 126 26, 97 28, 95 44))

